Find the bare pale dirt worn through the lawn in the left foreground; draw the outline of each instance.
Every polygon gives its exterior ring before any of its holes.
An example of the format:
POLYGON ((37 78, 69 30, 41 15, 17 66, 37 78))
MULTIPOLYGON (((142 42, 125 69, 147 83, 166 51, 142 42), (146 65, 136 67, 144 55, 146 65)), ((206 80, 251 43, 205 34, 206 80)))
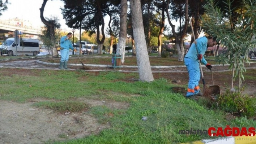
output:
MULTIPOLYGON (((38 101, 38 100, 37 100, 38 101)), ((119 102, 80 99, 91 106, 127 108, 119 102)), ((19 104, 0 101, 0 144, 41 144, 49 140, 82 138, 97 133, 110 125, 100 125, 88 113, 54 113, 52 110, 31 106, 34 102, 19 104)))

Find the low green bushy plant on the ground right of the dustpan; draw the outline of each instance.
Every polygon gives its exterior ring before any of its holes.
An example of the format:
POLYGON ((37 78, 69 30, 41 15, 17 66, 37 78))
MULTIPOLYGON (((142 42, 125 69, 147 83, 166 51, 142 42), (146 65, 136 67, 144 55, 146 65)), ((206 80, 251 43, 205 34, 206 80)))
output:
POLYGON ((247 117, 255 116, 256 112, 255 98, 242 95, 241 92, 231 92, 230 90, 217 97, 213 103, 213 108, 247 117))

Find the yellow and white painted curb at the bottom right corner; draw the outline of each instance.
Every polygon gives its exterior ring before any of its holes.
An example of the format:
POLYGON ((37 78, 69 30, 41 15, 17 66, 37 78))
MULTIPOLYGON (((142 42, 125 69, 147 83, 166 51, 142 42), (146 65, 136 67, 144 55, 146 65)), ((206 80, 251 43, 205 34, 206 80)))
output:
POLYGON ((220 139, 205 139, 199 141, 193 141, 191 143, 180 143, 180 144, 255 144, 256 143, 256 135, 255 136, 230 136, 220 139))

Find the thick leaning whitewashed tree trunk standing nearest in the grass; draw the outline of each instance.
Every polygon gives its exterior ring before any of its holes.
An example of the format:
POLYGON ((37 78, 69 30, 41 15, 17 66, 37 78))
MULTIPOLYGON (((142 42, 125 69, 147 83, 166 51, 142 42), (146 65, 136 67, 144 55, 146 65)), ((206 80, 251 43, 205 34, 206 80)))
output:
POLYGON ((140 0, 130 0, 132 13, 132 28, 136 45, 136 58, 138 65, 139 80, 150 82, 154 80, 146 48, 144 26, 140 0))

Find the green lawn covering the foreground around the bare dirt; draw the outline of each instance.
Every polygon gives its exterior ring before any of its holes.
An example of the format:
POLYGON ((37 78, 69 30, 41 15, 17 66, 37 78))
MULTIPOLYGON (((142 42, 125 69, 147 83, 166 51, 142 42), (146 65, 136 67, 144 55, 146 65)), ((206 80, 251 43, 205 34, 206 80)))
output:
MULTIPOLYGON (((3 69, 0 69, 0 73, 3 69)), ((199 139, 205 135, 179 135, 179 130, 209 127, 253 126, 246 118, 226 121, 225 113, 214 111, 201 104, 185 99, 181 94, 172 93, 174 85, 166 79, 153 82, 126 82, 138 78, 137 73, 85 72, 30 70, 29 75, 0 74, 0 100, 26 102, 31 99, 45 99, 34 105, 53 109, 56 112, 73 111, 86 113, 97 118, 98 123, 110 123, 111 127, 99 134, 85 138, 51 141, 55 144, 177 144, 199 139), (31 87, 30 87, 31 85, 31 87), (119 101, 128 103, 128 109, 107 106, 85 105, 77 98, 119 101), (109 117, 108 115, 113 115, 109 117), (147 121, 141 118, 147 116, 147 121)), ((66 139, 65 134, 59 138, 66 139)))

